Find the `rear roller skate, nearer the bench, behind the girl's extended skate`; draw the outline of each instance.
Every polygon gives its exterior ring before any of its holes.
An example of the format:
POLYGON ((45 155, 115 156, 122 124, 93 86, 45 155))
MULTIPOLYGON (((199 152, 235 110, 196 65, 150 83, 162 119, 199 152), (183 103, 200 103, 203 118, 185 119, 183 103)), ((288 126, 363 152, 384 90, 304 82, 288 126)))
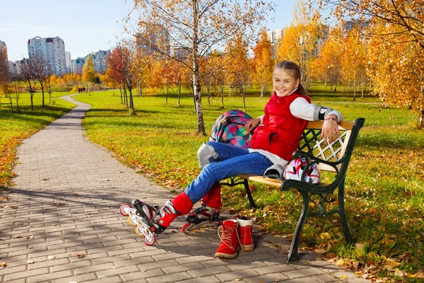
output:
POLYGON ((208 207, 206 204, 202 203, 201 207, 187 215, 186 221, 188 223, 182 226, 182 233, 187 234, 191 231, 205 230, 208 228, 217 229, 222 221, 219 213, 219 209, 208 207))

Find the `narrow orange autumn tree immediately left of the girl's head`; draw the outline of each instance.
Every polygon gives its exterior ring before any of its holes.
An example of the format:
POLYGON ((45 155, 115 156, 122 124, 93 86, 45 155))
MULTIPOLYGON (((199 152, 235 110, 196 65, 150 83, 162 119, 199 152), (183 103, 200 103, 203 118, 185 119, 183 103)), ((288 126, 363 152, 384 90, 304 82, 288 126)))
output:
POLYGON ((261 88, 261 98, 264 97, 266 86, 272 85, 274 60, 271 41, 266 30, 261 29, 259 40, 253 49, 251 76, 252 83, 261 88))

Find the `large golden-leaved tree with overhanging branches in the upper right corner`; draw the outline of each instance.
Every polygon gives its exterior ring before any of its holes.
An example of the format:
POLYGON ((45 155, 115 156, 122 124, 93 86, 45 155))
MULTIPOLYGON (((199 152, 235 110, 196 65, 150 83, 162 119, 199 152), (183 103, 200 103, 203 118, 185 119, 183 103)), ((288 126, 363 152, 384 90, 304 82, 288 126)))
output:
POLYGON ((317 2, 321 8, 330 7, 342 23, 346 16, 364 24, 369 23, 372 31, 367 51, 370 62, 374 64, 368 74, 375 93, 382 100, 409 105, 418 110, 420 127, 424 128, 424 1, 317 2), (376 72, 375 68, 379 71, 376 72), (396 79, 394 74, 398 75, 396 79), (396 88, 389 81, 402 84, 396 88))

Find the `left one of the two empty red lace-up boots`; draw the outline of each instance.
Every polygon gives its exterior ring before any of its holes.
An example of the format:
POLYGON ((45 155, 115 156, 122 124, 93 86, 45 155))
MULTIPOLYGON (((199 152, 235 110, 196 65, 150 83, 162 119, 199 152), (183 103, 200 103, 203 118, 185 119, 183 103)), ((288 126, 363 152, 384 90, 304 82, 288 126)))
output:
POLYGON ((220 244, 216 250, 216 258, 237 258, 240 242, 238 237, 238 222, 235 219, 223 221, 223 225, 219 227, 220 244))

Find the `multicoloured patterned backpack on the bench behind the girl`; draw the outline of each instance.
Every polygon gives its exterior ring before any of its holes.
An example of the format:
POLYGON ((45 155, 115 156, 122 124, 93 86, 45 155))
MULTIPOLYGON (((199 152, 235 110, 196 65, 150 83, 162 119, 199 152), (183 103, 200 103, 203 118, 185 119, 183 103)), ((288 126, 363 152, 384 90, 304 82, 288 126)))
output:
POLYGON ((245 125, 249 120, 252 120, 252 117, 240 110, 223 113, 213 123, 209 141, 223 142, 248 149, 252 133, 247 132, 245 125))

